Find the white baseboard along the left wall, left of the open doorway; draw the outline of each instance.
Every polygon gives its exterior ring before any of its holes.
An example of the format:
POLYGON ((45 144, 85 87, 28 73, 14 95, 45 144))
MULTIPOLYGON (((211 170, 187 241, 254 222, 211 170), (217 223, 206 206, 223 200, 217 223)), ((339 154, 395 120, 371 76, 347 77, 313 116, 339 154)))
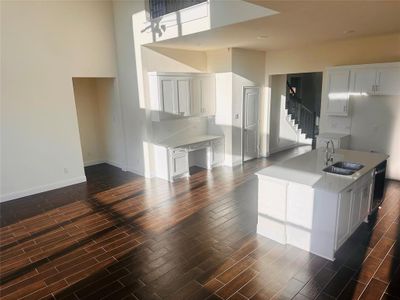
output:
POLYGON ((26 190, 19 191, 19 192, 12 192, 12 193, 8 193, 5 195, 1 195, 0 202, 15 200, 18 198, 22 198, 22 197, 42 193, 42 192, 47 192, 50 190, 55 190, 58 188, 69 186, 69 185, 82 183, 85 181, 86 181, 86 176, 79 176, 79 177, 75 177, 75 178, 71 178, 71 179, 67 179, 67 180, 57 181, 54 183, 33 187, 33 188, 26 189, 26 190))

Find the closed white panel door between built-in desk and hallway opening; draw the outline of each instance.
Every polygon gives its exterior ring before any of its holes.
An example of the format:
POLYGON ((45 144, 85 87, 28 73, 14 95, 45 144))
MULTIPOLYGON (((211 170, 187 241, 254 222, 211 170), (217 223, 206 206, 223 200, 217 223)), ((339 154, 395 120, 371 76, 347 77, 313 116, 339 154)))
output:
POLYGON ((258 88, 245 88, 243 101, 243 161, 258 156, 258 88))

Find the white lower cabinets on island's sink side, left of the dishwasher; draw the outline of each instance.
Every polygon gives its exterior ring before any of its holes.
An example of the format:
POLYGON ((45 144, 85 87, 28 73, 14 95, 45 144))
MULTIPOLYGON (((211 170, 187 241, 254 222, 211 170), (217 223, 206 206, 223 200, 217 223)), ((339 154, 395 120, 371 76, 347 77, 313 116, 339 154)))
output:
POLYGON ((335 249, 338 249, 368 217, 372 191, 373 172, 370 172, 338 195, 335 249))

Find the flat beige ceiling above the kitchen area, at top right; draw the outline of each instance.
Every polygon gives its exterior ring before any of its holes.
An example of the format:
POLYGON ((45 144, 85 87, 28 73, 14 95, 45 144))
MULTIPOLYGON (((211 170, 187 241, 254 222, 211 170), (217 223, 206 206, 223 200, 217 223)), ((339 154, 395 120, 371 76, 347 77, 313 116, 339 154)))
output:
POLYGON ((280 13, 164 42, 160 47, 211 50, 289 49, 308 44, 400 33, 399 1, 247 0, 280 13))

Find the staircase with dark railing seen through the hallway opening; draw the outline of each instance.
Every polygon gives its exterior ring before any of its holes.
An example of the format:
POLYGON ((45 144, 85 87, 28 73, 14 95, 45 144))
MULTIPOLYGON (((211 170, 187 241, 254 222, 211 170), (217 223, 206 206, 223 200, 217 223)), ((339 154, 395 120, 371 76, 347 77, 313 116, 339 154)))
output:
POLYGON ((285 108, 288 113, 289 122, 292 122, 305 135, 306 139, 312 140, 311 144, 313 149, 315 149, 316 136, 318 134, 318 126, 316 124, 317 114, 302 104, 301 99, 296 96, 295 90, 289 85, 288 81, 287 86, 290 93, 286 96, 285 108))

